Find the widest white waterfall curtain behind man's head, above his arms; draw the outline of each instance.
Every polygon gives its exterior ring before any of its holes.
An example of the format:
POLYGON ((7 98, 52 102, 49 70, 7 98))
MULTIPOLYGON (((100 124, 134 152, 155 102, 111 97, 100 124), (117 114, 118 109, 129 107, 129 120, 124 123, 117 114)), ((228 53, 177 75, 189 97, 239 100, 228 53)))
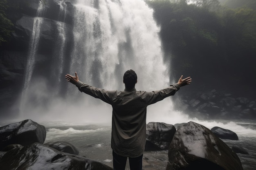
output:
POLYGON ((159 27, 143 0, 77 0, 71 73, 93 86, 123 89, 128 69, 138 74, 138 89, 168 84, 159 27), (149 83, 150 82, 150 83, 149 83))

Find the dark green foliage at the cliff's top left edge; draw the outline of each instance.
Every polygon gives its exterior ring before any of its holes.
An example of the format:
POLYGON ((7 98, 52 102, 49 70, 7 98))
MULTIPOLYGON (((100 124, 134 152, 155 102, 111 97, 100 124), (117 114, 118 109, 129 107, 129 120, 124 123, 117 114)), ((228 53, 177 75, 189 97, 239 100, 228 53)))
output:
POLYGON ((11 36, 12 22, 7 18, 6 11, 8 8, 7 0, 0 1, 0 45, 2 42, 7 42, 11 36))

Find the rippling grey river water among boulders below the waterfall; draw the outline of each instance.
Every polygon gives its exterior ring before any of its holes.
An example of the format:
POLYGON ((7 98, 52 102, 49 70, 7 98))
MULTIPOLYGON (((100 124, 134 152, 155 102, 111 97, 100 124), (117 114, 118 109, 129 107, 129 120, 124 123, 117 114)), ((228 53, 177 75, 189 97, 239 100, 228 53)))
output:
MULTIPOLYGON (((249 155, 238 153, 244 170, 255 170, 256 167, 256 121, 195 121, 211 129, 219 126, 236 132, 238 141, 223 140, 229 147, 241 146, 249 155)), ((178 122, 173 122, 178 123, 178 122)), ((182 123, 182 122, 179 122, 182 123)), ((70 122, 41 122, 47 129, 46 142, 68 141, 78 150, 79 155, 100 161, 112 167, 111 125, 110 124, 77 124, 70 122)), ((144 152, 144 170, 164 170, 168 161, 168 150, 144 152)), ((126 169, 129 170, 128 164, 126 169)))

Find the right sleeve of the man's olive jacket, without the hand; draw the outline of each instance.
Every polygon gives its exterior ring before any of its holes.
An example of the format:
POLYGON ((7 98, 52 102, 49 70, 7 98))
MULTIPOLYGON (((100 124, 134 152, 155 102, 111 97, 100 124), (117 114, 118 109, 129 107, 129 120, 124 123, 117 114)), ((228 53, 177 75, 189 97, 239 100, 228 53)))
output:
POLYGON ((166 97, 169 97, 171 95, 175 95, 175 93, 180 89, 180 85, 179 84, 173 84, 170 85, 168 88, 164 88, 162 90, 159 91, 152 91, 148 93, 148 105, 150 104, 154 104, 156 102, 159 102, 161 100, 163 100, 166 97))

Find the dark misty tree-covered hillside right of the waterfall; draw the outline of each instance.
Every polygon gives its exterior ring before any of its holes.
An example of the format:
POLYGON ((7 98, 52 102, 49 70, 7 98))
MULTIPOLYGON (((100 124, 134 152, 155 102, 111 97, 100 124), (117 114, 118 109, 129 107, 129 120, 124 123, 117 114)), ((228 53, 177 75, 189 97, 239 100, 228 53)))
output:
POLYGON ((173 76, 207 75, 220 82, 233 77, 234 84, 256 85, 256 10, 248 5, 254 1, 243 0, 245 4, 232 9, 218 0, 147 1, 161 26, 173 76))

